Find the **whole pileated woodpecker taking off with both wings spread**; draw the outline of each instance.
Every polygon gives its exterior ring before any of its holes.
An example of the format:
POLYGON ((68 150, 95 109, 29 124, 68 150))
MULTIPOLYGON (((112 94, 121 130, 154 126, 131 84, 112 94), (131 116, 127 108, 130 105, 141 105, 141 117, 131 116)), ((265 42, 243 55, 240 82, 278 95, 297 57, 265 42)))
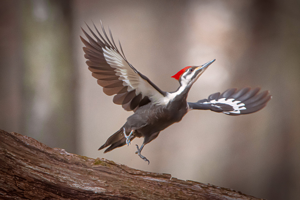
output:
POLYGON ((168 126, 182 120, 188 111, 211 110, 228 115, 249 114, 264 108, 271 99, 269 91, 258 94, 260 88, 240 90, 232 88, 222 94, 214 93, 207 99, 195 103, 187 102, 191 86, 215 59, 204 65, 183 68, 172 76, 179 81, 179 88, 175 92, 164 92, 127 61, 120 41, 122 54, 119 52, 110 29, 111 41, 102 22, 101 27, 106 40, 95 24, 94 27, 101 39, 89 27, 89 31, 97 41, 83 29, 89 42, 80 36, 85 44, 83 51, 85 58, 88 59, 86 61, 88 69, 92 72, 92 76, 98 79, 97 83, 103 87, 105 94, 116 94, 113 97, 115 104, 122 105, 126 111, 134 111, 126 123, 98 149, 109 146, 104 153, 125 144, 129 145, 135 137, 144 137, 142 146, 139 148, 137 145, 135 153, 149 164, 149 160, 141 155, 144 145, 154 140, 168 126))

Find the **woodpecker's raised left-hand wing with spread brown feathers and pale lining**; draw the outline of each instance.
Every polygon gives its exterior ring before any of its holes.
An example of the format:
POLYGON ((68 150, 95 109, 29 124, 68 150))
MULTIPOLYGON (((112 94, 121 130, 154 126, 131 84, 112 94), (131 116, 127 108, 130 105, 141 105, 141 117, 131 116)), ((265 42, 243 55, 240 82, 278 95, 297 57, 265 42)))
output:
POLYGON ((114 95, 113 102, 126 111, 132 111, 149 102, 158 102, 160 98, 166 95, 149 78, 137 71, 129 62, 127 62, 120 41, 119 45, 122 54, 119 52, 110 32, 110 39, 102 26, 103 34, 100 34, 95 24, 94 27, 100 38, 88 27, 91 34, 96 38, 95 41, 82 28, 88 41, 80 36, 85 44, 83 51, 84 57, 88 59, 86 64, 92 72, 92 76, 97 78, 97 83, 103 87, 103 92, 107 95, 114 95))

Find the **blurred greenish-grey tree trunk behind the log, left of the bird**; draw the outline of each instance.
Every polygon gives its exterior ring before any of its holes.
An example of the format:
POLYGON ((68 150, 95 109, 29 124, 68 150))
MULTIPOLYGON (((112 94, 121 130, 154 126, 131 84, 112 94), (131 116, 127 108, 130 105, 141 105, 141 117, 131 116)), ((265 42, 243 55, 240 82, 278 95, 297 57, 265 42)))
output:
POLYGON ((23 132, 76 153, 76 71, 71 2, 22 1, 23 132))

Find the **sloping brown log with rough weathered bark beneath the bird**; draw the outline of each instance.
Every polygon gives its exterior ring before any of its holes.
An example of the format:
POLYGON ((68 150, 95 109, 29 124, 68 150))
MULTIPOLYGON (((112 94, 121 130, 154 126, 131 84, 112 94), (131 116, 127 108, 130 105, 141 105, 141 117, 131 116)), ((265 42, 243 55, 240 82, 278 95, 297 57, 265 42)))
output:
POLYGON ((258 199, 50 148, 0 130, 0 199, 258 199))

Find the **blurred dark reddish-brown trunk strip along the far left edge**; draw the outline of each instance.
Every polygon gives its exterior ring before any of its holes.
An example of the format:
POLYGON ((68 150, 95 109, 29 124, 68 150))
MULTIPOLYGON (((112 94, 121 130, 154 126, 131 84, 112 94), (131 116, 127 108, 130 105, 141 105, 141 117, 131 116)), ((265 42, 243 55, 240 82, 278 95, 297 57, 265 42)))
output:
POLYGON ((0 127, 22 130, 22 38, 19 1, 0 4, 0 127))

